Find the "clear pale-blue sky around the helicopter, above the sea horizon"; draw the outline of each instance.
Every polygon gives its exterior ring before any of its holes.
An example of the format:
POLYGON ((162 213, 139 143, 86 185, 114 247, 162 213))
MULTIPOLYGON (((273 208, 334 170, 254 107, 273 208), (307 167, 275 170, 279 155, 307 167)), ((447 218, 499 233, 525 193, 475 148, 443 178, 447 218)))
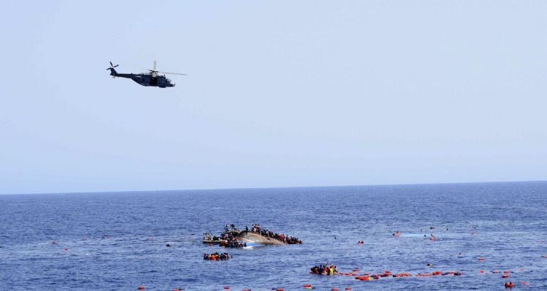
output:
POLYGON ((547 180, 547 1, 7 1, 0 194, 547 180), (176 87, 118 72, 158 70, 176 87))

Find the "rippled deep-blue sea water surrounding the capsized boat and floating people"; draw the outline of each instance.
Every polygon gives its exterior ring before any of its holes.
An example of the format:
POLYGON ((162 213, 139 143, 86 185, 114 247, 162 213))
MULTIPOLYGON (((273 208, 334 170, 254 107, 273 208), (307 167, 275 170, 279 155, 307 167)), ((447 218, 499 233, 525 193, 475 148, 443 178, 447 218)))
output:
POLYGON ((507 182, 2 195, 0 290, 503 290, 506 281, 547 290, 546 194, 547 182, 507 182), (222 251, 202 244, 202 233, 232 223, 304 243, 202 260, 222 251), (438 241, 423 238, 430 226, 438 241), (308 273, 325 262, 342 272, 464 274, 359 281, 308 273), (513 273, 502 279, 494 269, 513 273))

